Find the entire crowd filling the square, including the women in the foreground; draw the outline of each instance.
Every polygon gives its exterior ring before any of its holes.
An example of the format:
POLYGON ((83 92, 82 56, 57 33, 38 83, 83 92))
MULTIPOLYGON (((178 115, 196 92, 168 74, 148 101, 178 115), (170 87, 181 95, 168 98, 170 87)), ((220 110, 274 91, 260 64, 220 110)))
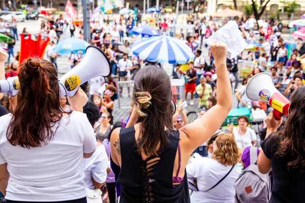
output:
MULTIPOLYGON (((212 17, 189 18, 194 30, 179 33, 179 39, 195 59, 174 64, 169 77, 157 62, 130 53, 124 38, 131 38, 139 20, 132 15, 112 23, 94 20, 90 43, 106 53, 112 75, 90 79, 75 96, 59 98, 59 55, 53 47, 65 38, 84 39, 83 30, 63 16, 42 21, 39 33, 50 38, 49 61, 27 59, 19 73, 18 63, 10 62, 5 76, 18 73, 20 90, 18 96, 0 95, 0 191, 7 202, 302 202, 305 80, 300 59, 305 44, 282 39, 275 19, 258 22, 258 31, 253 17, 236 22, 242 38, 260 43, 263 51, 245 50, 227 59, 225 44, 208 47, 203 41, 222 24, 212 17), (255 65, 241 78, 242 60, 255 65), (247 83, 261 72, 270 73, 275 87, 291 100, 288 118, 277 121, 272 108, 247 96, 247 83), (171 87, 171 78, 185 79, 185 95, 181 87, 171 87), (115 100, 124 95, 132 100, 126 120, 113 116, 115 100), (232 95, 238 101, 233 108, 268 114, 259 138, 245 115, 227 132, 221 129, 232 95), (190 122, 184 103, 197 101, 198 118, 190 122)), ((174 36, 175 23, 174 15, 164 15, 156 26, 174 36)), ((68 56, 72 69, 83 56, 68 56)), ((8 57, 0 51, 1 71, 8 57)))

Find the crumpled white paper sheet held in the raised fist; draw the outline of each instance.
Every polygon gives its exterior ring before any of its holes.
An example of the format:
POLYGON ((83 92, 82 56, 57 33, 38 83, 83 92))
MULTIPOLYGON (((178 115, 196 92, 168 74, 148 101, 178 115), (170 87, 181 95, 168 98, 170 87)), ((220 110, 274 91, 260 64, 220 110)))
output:
POLYGON ((227 44, 227 58, 230 59, 240 54, 248 46, 241 37, 237 23, 232 20, 213 33, 208 39, 205 39, 204 42, 210 46, 214 40, 227 44))

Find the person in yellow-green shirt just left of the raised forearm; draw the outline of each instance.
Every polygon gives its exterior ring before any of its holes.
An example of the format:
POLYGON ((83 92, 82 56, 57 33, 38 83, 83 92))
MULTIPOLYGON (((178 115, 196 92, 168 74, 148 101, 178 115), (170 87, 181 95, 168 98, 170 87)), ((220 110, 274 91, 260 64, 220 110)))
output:
POLYGON ((206 83, 206 79, 204 76, 201 76, 200 78, 200 84, 196 87, 196 92, 199 96, 199 108, 206 108, 208 109, 208 97, 212 94, 212 87, 206 83))

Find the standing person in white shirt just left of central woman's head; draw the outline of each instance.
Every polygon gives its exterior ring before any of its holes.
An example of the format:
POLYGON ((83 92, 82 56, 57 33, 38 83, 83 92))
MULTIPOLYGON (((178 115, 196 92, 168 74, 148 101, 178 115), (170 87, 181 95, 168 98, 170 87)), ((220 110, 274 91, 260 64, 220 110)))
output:
MULTIPOLYGON (((127 53, 123 54, 123 58, 119 59, 117 63, 117 74, 120 81, 130 81, 130 71, 133 70, 133 65, 130 59, 128 59, 127 53)), ((120 96, 123 95, 123 86, 120 85, 120 96)), ((130 83, 127 83, 128 96, 130 96, 130 83)))

